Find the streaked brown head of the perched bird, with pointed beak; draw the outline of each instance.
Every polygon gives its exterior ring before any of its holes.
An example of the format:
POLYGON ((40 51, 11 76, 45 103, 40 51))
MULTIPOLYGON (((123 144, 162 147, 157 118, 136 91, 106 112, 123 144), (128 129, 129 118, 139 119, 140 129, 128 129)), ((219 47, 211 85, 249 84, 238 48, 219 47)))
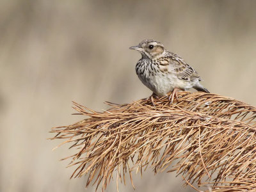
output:
POLYGON ((163 54, 164 45, 155 40, 143 40, 139 45, 130 47, 129 49, 140 51, 142 58, 153 60, 163 54))

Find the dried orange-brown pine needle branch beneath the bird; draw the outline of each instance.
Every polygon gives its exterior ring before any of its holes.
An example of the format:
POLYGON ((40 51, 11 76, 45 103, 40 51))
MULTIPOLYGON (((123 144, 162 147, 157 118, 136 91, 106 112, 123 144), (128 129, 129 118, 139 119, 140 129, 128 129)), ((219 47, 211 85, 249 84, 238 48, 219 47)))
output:
POLYGON ((70 166, 78 165, 71 177, 88 174, 86 186, 102 183, 104 190, 114 170, 117 184, 125 182, 126 172, 132 182, 133 170, 171 168, 168 172, 182 174, 187 184, 211 186, 211 191, 255 190, 256 108, 211 93, 178 96, 171 105, 161 97, 156 107, 145 99, 108 102, 112 108, 103 113, 74 102, 78 114, 88 118, 51 131, 57 133, 52 139, 78 148, 67 157, 70 166))

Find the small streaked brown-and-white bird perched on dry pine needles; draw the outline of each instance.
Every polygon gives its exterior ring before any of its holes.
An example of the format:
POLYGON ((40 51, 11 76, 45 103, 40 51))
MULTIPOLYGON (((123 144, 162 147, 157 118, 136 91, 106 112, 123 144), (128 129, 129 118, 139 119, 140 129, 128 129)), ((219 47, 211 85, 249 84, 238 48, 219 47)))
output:
POLYGON ((136 64, 136 74, 140 81, 153 93, 150 96, 152 104, 154 97, 168 96, 170 103, 177 97, 179 90, 187 91, 195 88, 198 92, 209 93, 200 84, 202 78, 196 70, 188 65, 180 56, 164 49, 164 45, 156 40, 143 40, 140 44, 130 47, 141 53, 141 59, 136 64))

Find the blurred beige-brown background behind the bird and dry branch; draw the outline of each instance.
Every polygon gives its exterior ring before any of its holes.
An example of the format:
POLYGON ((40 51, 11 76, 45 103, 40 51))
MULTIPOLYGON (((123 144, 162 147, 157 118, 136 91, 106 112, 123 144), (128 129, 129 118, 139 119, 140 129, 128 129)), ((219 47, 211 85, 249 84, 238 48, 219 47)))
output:
MULTIPOLYGON (((94 191, 59 161, 51 127, 73 124, 74 100, 107 109, 151 92, 135 73, 145 38, 163 42, 212 93, 256 106, 256 1, 0 2, 0 191, 94 191)), ((120 191, 133 191, 127 185, 120 191)), ((193 191, 175 173, 134 173, 136 191, 193 191), (183 182, 184 183, 184 182, 183 182)), ((115 191, 115 181, 107 191, 115 191)))

